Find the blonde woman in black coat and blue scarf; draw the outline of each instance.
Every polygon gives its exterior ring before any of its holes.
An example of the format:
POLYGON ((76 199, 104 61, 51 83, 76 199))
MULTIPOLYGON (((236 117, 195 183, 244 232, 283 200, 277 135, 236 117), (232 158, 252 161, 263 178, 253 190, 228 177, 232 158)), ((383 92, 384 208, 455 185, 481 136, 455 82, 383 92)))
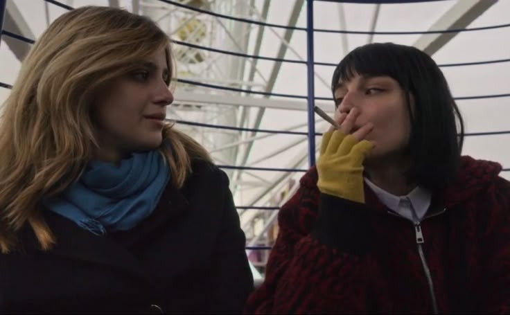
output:
POLYGON ((240 312, 253 279, 224 172, 165 123, 168 37, 56 19, 0 123, 0 312, 240 312))

